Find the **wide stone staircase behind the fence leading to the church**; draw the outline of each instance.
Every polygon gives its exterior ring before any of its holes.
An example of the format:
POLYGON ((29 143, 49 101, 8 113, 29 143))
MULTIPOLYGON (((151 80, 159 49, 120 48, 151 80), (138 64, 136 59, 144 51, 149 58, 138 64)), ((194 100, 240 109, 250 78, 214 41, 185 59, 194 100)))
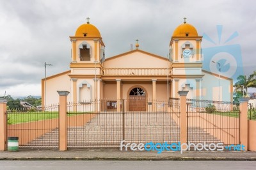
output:
MULTIPOLYGON (((82 127, 68 127, 68 148, 119 147, 125 143, 178 143, 180 128, 170 113, 127 113, 124 129, 122 114, 99 114, 82 127), (124 130, 124 139, 123 139, 124 130)), ((205 132, 203 128, 188 128, 188 141, 191 143, 220 143, 221 141, 205 132)), ((58 147, 58 128, 47 132, 24 145, 24 147, 58 147)))

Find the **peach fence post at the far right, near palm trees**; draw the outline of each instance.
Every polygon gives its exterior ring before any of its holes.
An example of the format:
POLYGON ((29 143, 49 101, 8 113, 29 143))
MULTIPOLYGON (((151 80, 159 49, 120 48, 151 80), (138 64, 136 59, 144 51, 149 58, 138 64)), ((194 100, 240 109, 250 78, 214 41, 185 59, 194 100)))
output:
POLYGON ((240 144, 244 145, 244 150, 248 150, 248 101, 250 98, 240 98, 239 100, 239 109, 241 112, 240 115, 240 144))

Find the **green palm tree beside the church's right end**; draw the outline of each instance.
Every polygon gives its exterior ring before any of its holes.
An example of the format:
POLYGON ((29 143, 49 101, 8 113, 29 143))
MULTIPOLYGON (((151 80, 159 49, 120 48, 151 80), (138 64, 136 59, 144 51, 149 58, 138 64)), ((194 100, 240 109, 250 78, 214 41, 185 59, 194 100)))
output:
POLYGON ((248 88, 256 88, 256 71, 254 71, 251 75, 239 75, 237 77, 237 82, 234 84, 235 92, 244 91, 247 95, 248 88))

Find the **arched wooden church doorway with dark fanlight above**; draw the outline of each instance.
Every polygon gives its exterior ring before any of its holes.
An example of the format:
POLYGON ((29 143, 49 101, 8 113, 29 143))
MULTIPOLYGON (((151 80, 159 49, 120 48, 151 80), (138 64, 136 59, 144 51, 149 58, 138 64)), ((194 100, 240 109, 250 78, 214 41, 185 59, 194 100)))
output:
POLYGON ((129 92, 129 111, 146 111, 146 93, 142 88, 132 88, 129 92))

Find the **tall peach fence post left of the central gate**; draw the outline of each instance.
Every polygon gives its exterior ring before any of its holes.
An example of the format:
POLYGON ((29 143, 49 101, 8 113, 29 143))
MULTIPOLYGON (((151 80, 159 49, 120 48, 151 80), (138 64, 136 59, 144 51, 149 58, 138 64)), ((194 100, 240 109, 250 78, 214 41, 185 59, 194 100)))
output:
POLYGON ((60 151, 67 150, 67 95, 68 91, 57 91, 60 96, 60 151))

